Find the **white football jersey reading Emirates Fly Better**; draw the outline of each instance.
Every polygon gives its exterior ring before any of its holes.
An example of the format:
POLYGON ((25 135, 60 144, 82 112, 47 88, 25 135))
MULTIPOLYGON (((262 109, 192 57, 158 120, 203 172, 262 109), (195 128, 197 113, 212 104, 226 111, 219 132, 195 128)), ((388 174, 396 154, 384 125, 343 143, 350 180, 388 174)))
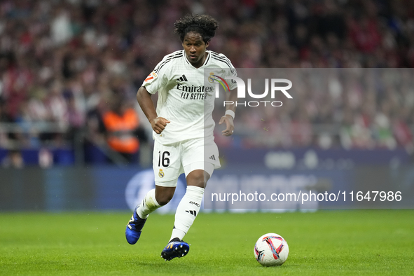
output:
MULTIPOLYGON (((158 92, 157 114, 170 120, 161 134, 153 131, 153 138, 160 144, 172 144, 196 137, 212 137, 215 90, 210 75, 224 78, 237 76, 230 60, 223 55, 206 50, 208 56, 200 68, 188 62, 184 50, 166 55, 142 86, 155 94, 158 92), (207 75, 208 76, 208 75, 207 75)), ((237 84, 228 81, 233 90, 237 84)))

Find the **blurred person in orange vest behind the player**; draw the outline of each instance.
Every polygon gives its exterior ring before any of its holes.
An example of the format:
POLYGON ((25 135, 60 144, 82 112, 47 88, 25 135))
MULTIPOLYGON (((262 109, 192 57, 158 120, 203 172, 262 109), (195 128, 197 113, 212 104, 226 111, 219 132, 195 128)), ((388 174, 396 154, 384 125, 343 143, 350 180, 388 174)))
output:
POLYGON ((137 112, 123 101, 120 95, 112 98, 112 109, 102 116, 106 128, 106 141, 109 147, 133 163, 139 151, 137 129, 139 117, 137 112))

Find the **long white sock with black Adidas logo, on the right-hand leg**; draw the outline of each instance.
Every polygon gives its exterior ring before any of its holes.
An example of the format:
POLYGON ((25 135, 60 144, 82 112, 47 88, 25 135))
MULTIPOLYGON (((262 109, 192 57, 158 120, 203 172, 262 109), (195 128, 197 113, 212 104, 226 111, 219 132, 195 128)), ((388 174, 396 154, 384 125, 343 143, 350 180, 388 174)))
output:
POLYGON ((186 194, 181 198, 175 212, 174 229, 172 229, 170 240, 174 239, 174 237, 182 240, 184 235, 186 235, 200 211, 203 194, 204 188, 187 186, 186 194))

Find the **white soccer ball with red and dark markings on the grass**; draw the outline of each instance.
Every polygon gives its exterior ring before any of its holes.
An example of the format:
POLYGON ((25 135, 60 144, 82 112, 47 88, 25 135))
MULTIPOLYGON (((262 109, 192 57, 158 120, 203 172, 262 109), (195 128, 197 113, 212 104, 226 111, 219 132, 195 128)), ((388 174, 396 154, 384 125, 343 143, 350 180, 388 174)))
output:
POLYGON ((282 265, 289 255, 289 246, 281 235, 268 233, 254 244, 254 256, 264 266, 282 265))

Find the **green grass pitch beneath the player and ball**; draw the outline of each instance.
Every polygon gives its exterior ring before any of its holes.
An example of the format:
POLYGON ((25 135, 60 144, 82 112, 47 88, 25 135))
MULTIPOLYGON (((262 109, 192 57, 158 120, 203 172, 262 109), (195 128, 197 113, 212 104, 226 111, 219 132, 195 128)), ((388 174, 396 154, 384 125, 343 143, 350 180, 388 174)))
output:
POLYGON ((414 275, 414 210, 200 214, 188 255, 160 252, 173 215, 152 214, 135 245, 130 213, 0 214, 0 275, 414 275), (274 232, 287 262, 265 268, 254 243, 274 232))

